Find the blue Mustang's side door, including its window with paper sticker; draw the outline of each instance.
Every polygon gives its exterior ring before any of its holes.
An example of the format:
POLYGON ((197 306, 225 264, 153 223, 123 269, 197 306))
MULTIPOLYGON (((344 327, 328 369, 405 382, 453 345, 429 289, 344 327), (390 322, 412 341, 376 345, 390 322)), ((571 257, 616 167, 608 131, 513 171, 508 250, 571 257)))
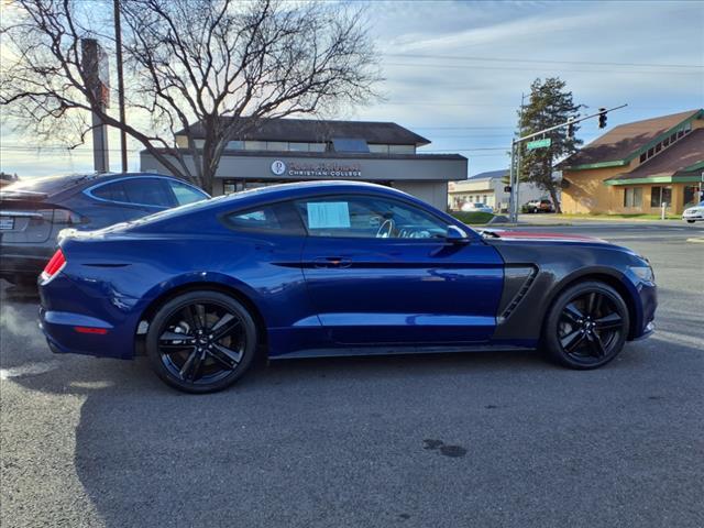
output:
POLYGON ((320 322, 340 344, 487 341, 503 261, 479 235, 450 242, 446 221, 376 195, 296 202, 301 263, 320 322))

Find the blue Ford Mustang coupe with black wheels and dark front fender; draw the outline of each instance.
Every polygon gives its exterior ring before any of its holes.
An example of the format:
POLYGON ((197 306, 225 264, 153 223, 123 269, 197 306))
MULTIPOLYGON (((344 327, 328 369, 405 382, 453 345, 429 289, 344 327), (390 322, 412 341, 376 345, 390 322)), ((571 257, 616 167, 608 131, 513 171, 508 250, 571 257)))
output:
POLYGON ((593 369, 652 331, 657 304, 650 265, 625 248, 475 232, 404 193, 328 182, 64 231, 40 293, 54 352, 144 350, 194 393, 255 354, 541 348, 593 369))

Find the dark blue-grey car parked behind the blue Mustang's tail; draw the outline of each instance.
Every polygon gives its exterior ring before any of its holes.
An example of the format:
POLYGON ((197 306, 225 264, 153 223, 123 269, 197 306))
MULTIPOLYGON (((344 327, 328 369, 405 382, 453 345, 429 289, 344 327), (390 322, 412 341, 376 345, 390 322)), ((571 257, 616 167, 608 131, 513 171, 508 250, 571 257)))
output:
POLYGON ((36 284, 62 229, 90 230, 209 198, 180 179, 146 173, 24 179, 0 191, 0 278, 36 284))

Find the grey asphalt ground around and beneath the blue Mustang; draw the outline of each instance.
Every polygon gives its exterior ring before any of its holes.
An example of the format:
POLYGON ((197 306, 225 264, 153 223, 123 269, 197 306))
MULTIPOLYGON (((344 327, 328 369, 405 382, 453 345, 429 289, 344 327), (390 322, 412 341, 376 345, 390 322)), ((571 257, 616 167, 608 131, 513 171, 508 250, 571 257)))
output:
POLYGON ((2 526, 704 526, 704 226, 539 229, 648 256, 657 333, 591 372, 301 360, 188 396, 144 360, 52 355, 3 284, 2 526))

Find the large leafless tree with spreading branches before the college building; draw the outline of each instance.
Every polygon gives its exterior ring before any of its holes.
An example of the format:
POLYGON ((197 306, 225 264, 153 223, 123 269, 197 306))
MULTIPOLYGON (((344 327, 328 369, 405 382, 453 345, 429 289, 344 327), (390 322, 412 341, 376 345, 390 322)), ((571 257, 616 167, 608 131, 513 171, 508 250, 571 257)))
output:
POLYGON ((228 143, 260 118, 318 116, 364 103, 375 97, 380 80, 362 12, 349 6, 122 0, 130 112, 122 124, 101 108, 81 64, 81 38, 113 44, 111 28, 101 20, 109 20, 107 6, 78 0, 15 0, 15 6, 19 13, 1 30, 10 56, 0 72, 6 116, 38 139, 61 133, 80 143, 91 130, 89 112, 97 112, 170 173, 209 191, 228 143), (187 145, 176 144, 176 132, 187 145))

